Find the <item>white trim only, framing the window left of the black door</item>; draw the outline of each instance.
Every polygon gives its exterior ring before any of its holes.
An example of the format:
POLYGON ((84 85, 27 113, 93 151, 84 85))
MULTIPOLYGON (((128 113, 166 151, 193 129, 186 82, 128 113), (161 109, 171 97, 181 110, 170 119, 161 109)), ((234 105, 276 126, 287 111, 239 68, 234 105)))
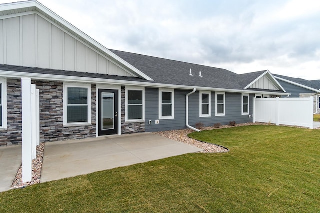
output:
POLYGON ((79 84, 79 83, 63 83, 63 126, 85 126, 91 125, 91 84, 79 84), (88 122, 76 122, 76 123, 67 123, 67 88, 68 87, 78 87, 78 88, 88 88, 88 122))

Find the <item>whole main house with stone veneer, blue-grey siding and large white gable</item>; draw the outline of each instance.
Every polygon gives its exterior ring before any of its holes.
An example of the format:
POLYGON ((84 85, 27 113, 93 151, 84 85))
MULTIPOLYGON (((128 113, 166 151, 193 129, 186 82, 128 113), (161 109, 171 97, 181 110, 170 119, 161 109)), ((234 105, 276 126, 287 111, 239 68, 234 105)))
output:
POLYGON ((0 145, 21 142, 21 78, 41 142, 252 122, 253 97, 289 94, 269 71, 109 50, 35 0, 0 5, 0 29, 0 145))

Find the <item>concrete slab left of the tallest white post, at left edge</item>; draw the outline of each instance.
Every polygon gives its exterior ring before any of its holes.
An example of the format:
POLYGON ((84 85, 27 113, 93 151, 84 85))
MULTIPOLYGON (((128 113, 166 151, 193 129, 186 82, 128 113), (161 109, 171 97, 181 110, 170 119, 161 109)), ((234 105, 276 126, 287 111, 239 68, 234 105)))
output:
POLYGON ((21 145, 0 147, 0 192, 11 188, 21 163, 21 145))

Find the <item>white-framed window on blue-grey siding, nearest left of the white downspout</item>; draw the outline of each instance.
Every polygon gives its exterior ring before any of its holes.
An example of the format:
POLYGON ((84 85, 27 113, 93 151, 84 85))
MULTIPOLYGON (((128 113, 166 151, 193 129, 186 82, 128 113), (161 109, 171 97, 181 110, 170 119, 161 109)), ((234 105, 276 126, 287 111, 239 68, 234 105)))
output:
POLYGON ((174 119, 174 90, 159 89, 159 119, 174 119))

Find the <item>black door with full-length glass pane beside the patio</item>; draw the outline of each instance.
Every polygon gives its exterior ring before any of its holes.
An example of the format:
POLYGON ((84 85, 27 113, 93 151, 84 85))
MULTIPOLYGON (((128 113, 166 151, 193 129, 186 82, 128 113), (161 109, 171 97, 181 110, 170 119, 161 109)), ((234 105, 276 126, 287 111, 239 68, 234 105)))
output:
POLYGON ((118 91, 110 89, 98 90, 98 131, 100 135, 118 133, 118 91))

